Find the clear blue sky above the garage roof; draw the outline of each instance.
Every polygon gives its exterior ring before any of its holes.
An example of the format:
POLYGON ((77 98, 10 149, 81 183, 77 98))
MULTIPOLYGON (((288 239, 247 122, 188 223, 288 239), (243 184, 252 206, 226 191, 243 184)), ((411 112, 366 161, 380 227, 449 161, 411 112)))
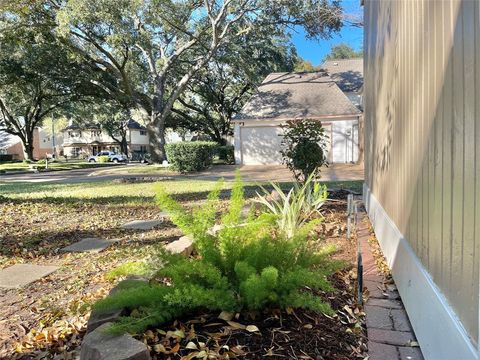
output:
MULTIPOLYGON (((360 0, 342 0, 341 6, 346 14, 361 15, 363 13, 360 0)), ((363 28, 348 25, 329 40, 308 40, 301 29, 292 35, 298 55, 311 61, 313 65, 320 65, 331 47, 339 43, 349 44, 355 50, 360 50, 363 45, 363 28)))

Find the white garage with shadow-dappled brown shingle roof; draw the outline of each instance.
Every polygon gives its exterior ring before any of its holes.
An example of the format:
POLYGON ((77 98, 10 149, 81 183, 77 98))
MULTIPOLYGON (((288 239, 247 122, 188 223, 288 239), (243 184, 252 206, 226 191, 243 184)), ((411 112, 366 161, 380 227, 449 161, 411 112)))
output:
POLYGON ((235 162, 281 164, 281 125, 295 119, 322 122, 329 162, 357 162, 361 115, 325 72, 272 73, 232 121, 235 162))

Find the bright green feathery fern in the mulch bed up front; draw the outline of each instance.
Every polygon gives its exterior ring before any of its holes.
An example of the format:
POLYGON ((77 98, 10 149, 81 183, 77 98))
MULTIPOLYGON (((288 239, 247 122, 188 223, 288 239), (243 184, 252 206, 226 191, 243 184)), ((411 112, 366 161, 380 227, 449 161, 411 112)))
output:
POLYGON ((149 283, 137 283, 98 302, 96 308, 130 310, 111 331, 139 332, 199 310, 255 311, 265 308, 307 308, 332 314, 316 291, 332 291, 327 276, 339 267, 325 251, 309 245, 312 223, 292 238, 275 231, 275 217, 266 214, 244 219, 243 185, 232 190, 222 227, 214 224, 222 183, 204 205, 188 212, 162 187, 157 201, 172 221, 193 237, 199 256, 163 254, 165 264, 149 283), (241 226, 240 226, 241 225, 241 226))

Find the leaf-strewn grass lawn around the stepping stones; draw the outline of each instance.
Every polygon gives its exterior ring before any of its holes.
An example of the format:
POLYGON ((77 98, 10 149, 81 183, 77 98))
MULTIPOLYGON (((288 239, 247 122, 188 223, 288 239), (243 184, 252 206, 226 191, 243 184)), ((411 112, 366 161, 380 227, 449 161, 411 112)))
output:
MULTIPOLYGON (((216 184, 192 179, 159 183, 187 207, 206 199, 216 184)), ((328 186, 361 191, 361 184, 335 182, 328 186)), ((154 186, 0 182, 0 268, 22 262, 59 266, 48 278, 22 290, 0 290, 0 318, 8 319, 0 322, 0 334, 5 334, 0 336, 0 358, 22 358, 27 353, 42 358, 78 351, 91 305, 114 285, 106 274, 125 262, 155 256, 164 244, 181 235, 168 222, 150 231, 120 228, 134 219, 159 217, 154 186), (60 248, 86 237, 118 242, 98 254, 59 253, 60 248)), ((231 186, 225 182, 223 198, 231 186)), ((247 197, 258 189, 247 184, 247 197)), ((329 225, 323 229, 340 247, 346 244, 343 214, 343 207, 330 209, 326 214, 329 225)), ((349 260, 354 256, 351 249, 344 250, 349 260)))

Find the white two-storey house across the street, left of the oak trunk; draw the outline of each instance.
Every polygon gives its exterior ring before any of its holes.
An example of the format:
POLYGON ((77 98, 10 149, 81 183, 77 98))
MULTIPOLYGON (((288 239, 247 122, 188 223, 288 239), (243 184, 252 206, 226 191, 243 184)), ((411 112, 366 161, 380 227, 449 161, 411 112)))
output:
MULTIPOLYGON (((121 153, 120 145, 99 124, 77 125, 70 123, 63 130, 63 151, 68 157, 96 155, 102 150, 121 153)), ((131 153, 149 152, 147 129, 134 120, 127 124, 126 139, 131 153)))

